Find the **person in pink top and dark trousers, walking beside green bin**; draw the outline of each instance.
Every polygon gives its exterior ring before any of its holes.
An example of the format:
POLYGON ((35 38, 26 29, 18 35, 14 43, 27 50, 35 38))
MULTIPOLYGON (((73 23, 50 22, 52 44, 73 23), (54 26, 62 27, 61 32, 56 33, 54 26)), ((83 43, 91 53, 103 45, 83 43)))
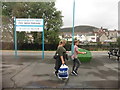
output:
POLYGON ((78 51, 78 44, 79 44, 79 41, 78 40, 75 40, 74 41, 74 54, 72 55, 72 59, 73 59, 73 67, 72 67, 72 72, 71 74, 72 75, 78 75, 78 68, 80 67, 80 60, 78 59, 78 54, 85 54, 86 52, 80 52, 78 51))

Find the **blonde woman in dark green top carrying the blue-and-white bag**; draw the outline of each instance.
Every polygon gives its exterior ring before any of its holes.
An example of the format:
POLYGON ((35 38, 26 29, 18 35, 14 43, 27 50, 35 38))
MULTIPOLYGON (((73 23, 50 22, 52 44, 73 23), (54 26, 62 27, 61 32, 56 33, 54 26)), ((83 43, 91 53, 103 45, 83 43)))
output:
POLYGON ((56 58, 55 62, 55 75, 57 76, 58 70, 62 64, 65 64, 65 59, 66 59, 66 49, 64 48, 66 44, 65 40, 61 40, 59 42, 58 48, 56 50, 56 53, 58 54, 58 57, 56 58))

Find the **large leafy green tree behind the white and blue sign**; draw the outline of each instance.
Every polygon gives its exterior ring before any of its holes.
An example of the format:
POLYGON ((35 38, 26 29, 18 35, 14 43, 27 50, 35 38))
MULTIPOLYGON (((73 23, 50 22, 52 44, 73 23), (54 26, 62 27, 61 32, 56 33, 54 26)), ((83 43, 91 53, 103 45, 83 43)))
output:
MULTIPOLYGON (((13 36, 13 18, 43 18, 46 43, 57 43, 58 32, 63 25, 61 12, 55 8, 54 2, 4 2, 2 4, 2 16, 9 19, 10 24, 3 20, 6 27, 12 25, 9 29, 13 36)), ((3 28, 3 31, 6 31, 3 28)), ((34 43, 41 43, 41 33, 31 32, 34 43)), ((27 41, 26 32, 18 33, 18 41, 24 43, 27 41)))

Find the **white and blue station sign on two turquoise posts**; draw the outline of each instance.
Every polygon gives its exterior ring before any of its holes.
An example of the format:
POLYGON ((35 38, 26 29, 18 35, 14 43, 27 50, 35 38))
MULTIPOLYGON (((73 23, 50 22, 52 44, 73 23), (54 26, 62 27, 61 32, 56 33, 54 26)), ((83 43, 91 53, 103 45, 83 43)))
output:
POLYGON ((14 44, 17 57, 17 31, 42 32, 42 59, 44 59, 44 22, 43 19, 14 18, 14 44))

